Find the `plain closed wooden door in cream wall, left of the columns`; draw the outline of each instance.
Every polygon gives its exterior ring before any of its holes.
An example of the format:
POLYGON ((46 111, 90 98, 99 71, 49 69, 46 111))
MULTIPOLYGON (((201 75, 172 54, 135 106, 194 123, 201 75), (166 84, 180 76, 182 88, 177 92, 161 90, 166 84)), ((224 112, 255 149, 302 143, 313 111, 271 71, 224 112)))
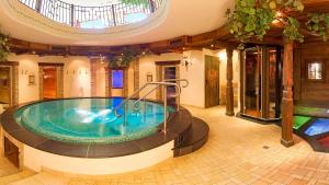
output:
POLYGON ((205 107, 219 105, 219 58, 205 56, 205 107))

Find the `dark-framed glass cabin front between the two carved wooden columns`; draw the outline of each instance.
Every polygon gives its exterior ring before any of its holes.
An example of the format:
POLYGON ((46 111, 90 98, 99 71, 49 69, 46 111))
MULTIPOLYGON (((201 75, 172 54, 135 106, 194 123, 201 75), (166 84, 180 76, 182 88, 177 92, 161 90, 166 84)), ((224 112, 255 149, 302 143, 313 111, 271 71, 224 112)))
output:
POLYGON ((254 46, 245 50, 241 79, 241 114, 272 120, 280 118, 281 47, 254 46))

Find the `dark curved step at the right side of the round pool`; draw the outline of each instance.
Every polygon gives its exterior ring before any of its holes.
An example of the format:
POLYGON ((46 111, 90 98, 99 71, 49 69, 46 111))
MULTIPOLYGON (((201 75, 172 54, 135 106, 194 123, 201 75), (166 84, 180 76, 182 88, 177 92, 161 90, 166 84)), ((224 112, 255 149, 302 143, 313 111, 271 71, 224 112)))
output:
POLYGON ((189 137, 173 149, 173 157, 182 157, 198 150, 206 143, 208 134, 208 125, 204 120, 193 117, 189 137))

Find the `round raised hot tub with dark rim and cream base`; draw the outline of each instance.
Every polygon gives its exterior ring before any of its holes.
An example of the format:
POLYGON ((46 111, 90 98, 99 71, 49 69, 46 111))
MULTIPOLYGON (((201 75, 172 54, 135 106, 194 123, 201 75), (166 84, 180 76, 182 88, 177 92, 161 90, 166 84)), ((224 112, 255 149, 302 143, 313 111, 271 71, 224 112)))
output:
POLYGON ((1 117, 3 136, 20 143, 22 166, 73 174, 103 175, 144 169, 173 157, 172 149, 189 132, 191 114, 146 101, 134 108, 114 108, 118 97, 38 101, 18 105, 1 117))

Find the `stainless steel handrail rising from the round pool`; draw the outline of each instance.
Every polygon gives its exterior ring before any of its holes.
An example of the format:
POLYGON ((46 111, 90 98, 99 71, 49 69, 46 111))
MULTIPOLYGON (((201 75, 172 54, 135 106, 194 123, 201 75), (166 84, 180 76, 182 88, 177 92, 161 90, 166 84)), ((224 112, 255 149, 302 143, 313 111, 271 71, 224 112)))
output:
MULTIPOLYGON (((159 88, 160 85, 163 85, 163 86, 175 86, 177 89, 177 94, 175 95, 180 95, 181 94, 181 86, 177 83, 171 83, 171 82, 148 82, 148 83, 145 83, 141 88, 139 88, 137 91, 134 92, 133 95, 128 96, 125 101, 121 102, 115 108, 114 108, 114 115, 116 117, 122 117, 122 115, 117 114, 117 109, 122 106, 122 105, 125 105, 125 108, 124 108, 124 114, 126 115, 126 111, 127 111, 127 106, 126 106, 126 103, 132 100, 135 95, 137 95, 141 90, 144 90, 146 86, 148 85, 157 85, 157 88, 159 88)), ((154 89, 152 89, 154 91, 154 89)), ((168 112, 168 108, 167 108, 167 88, 163 88, 163 132, 166 134, 167 132, 167 112, 168 112)), ((125 116, 125 119, 126 119, 126 116, 125 116)), ((126 120, 125 120, 126 122, 126 120)), ((125 123, 124 123, 125 124, 125 123)))

